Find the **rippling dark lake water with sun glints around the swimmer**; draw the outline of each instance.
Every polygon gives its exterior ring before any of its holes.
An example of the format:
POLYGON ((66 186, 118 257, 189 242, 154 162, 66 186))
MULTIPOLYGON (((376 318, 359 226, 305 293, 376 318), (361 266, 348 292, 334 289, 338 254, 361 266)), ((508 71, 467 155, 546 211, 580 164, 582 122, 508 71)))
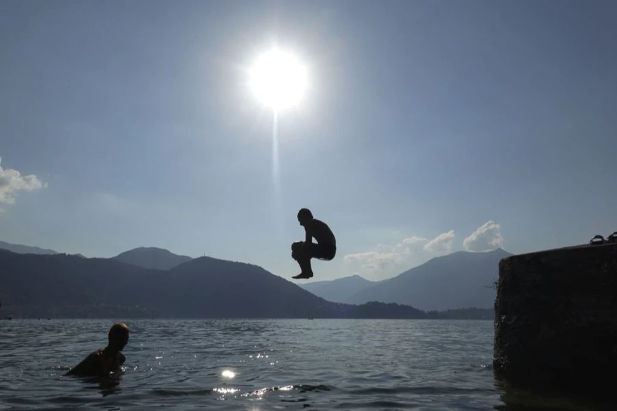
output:
POLYGON ((125 370, 100 379, 63 374, 113 321, 0 321, 0 409, 614 409, 504 388, 491 321, 125 322, 125 370))

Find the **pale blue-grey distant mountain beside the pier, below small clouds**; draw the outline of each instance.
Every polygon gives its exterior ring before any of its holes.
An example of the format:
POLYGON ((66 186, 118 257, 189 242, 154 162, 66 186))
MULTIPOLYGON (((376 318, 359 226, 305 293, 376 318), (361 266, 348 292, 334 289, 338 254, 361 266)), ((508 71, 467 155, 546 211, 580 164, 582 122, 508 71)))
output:
POLYGON ((356 292, 347 301, 400 303, 421 310, 492 308, 503 249, 487 253, 459 251, 433 258, 411 270, 356 292))

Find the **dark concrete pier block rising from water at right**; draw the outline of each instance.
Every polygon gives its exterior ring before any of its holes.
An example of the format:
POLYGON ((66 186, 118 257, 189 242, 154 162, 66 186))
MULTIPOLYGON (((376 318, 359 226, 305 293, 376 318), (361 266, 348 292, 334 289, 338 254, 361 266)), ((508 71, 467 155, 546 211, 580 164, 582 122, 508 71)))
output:
POLYGON ((501 260, 493 365, 513 384, 605 385, 617 367, 617 244, 501 260))

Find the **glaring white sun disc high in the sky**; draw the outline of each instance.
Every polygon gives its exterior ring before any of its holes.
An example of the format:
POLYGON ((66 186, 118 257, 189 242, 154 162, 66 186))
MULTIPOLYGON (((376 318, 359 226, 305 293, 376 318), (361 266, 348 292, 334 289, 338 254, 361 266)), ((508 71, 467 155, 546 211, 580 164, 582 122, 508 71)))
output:
POLYGON ((252 65, 250 88, 275 112, 295 107, 306 90, 306 69, 293 53, 271 49, 252 65))

